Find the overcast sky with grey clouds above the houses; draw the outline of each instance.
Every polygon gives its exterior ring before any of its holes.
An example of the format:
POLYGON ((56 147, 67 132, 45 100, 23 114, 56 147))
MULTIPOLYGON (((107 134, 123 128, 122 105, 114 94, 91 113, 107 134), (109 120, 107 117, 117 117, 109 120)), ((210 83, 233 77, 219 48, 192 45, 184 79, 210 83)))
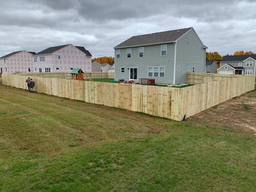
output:
POLYGON ((0 0, 0 56, 84 46, 93 57, 134 35, 194 27, 207 51, 256 52, 256 0, 0 0))

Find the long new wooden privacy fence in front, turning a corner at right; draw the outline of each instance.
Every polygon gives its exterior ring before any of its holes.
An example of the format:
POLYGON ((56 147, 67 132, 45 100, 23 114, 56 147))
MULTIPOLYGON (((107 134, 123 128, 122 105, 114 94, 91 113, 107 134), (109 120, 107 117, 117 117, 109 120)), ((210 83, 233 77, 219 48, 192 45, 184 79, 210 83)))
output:
MULTIPOLYGON (((94 104, 144 112, 180 121, 254 90, 255 76, 239 76, 184 88, 89 82, 31 76, 35 90, 94 104)), ((26 76, 3 74, 2 84, 26 89, 26 76)))

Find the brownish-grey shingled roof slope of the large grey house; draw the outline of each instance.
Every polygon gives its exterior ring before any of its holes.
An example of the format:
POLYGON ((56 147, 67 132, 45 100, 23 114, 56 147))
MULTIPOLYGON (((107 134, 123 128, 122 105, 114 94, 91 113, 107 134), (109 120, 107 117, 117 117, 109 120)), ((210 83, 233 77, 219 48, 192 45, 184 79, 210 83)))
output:
POLYGON ((184 29, 176 29, 171 31, 164 31, 158 33, 151 33, 145 35, 132 36, 131 38, 125 40, 114 48, 122 48, 127 46, 140 46, 146 44, 155 44, 155 43, 164 43, 164 42, 174 42, 186 32, 188 32, 190 28, 184 29))

